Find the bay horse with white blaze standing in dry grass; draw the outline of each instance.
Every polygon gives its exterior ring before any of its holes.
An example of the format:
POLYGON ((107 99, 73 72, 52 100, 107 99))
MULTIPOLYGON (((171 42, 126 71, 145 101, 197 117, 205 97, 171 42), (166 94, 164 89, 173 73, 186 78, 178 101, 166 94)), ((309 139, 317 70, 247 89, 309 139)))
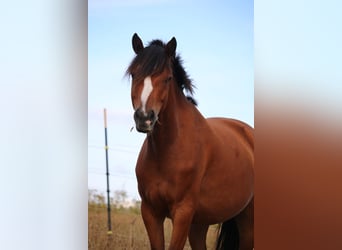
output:
POLYGON ((228 118, 204 118, 194 85, 176 54, 176 39, 144 47, 126 75, 137 131, 146 133, 136 163, 141 214, 151 249, 164 249, 164 220, 172 221, 168 249, 206 249, 211 224, 220 224, 217 249, 254 247, 254 130, 228 118))

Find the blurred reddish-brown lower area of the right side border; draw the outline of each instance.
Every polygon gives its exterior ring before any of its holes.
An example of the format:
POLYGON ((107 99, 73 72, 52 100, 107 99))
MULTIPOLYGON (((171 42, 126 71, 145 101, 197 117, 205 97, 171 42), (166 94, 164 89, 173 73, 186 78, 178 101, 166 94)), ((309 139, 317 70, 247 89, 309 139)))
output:
POLYGON ((338 126, 328 130, 304 109, 291 115, 256 101, 255 111, 255 249, 342 249, 338 126))

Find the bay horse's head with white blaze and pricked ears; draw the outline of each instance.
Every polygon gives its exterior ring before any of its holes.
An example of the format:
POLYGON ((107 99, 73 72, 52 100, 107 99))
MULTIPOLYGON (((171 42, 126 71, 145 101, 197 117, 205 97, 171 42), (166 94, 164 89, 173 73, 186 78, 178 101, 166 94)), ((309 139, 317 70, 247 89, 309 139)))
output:
POLYGON ((177 42, 175 38, 167 44, 154 40, 144 48, 141 39, 134 34, 132 45, 136 57, 127 73, 132 77, 134 120, 139 132, 148 133, 167 103, 170 83, 173 81, 172 62, 177 42))

